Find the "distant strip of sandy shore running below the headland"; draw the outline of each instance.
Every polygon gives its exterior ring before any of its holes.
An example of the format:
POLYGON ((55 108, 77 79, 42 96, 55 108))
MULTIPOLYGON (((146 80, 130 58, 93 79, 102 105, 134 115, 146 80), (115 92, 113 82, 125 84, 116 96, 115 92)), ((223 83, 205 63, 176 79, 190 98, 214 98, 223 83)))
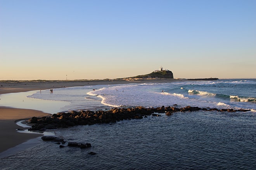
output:
POLYGON ((168 82, 203 81, 203 80, 210 80, 210 79, 209 78, 200 78, 200 79, 118 78, 118 79, 104 79, 104 80, 0 80, 0 94, 28 92, 28 91, 40 90, 40 89, 47 90, 51 88, 78 87, 78 86, 85 86, 85 85, 110 85, 110 84, 128 84, 128 83, 168 83, 168 82))

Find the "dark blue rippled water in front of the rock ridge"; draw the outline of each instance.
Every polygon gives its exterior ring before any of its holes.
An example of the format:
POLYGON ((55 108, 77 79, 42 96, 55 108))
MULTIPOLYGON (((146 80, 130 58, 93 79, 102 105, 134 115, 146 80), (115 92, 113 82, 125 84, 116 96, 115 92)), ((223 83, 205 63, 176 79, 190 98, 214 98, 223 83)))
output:
POLYGON ((177 112, 59 129, 57 136, 92 148, 43 142, 0 159, 0 168, 255 169, 255 122, 252 113, 177 112), (90 151, 97 154, 88 155, 90 151))

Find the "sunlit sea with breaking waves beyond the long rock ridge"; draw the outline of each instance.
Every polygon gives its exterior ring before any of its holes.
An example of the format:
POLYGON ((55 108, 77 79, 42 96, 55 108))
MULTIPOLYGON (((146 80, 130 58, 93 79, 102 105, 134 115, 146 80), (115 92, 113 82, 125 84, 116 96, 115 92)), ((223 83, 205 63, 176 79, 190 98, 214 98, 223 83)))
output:
POLYGON ((29 98, 63 101, 60 110, 99 110, 112 107, 161 107, 177 104, 256 110, 256 80, 218 80, 170 83, 133 83, 56 88, 29 98))

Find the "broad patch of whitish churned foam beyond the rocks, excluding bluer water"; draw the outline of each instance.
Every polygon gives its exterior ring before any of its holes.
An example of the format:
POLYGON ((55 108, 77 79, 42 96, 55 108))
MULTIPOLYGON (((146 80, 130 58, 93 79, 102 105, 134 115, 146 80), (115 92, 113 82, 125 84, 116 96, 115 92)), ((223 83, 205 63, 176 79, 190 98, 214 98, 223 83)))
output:
MULTIPOLYGON (((195 85, 197 84, 199 83, 196 82, 195 85)), ((183 86, 183 84, 180 83, 178 85, 165 85, 164 83, 126 84, 112 85, 109 87, 105 86, 104 88, 88 92, 87 94, 99 97, 101 104, 110 107, 138 105, 144 107, 159 107, 160 105, 167 106, 178 104, 199 107, 218 106, 226 108, 237 105, 234 103, 231 105, 229 104, 227 101, 230 97, 229 95, 225 96, 222 94, 211 93, 208 92, 207 89, 200 91, 190 88, 190 90, 187 90, 186 87, 187 86, 183 86), (162 92, 163 89, 165 89, 165 91, 162 92)))

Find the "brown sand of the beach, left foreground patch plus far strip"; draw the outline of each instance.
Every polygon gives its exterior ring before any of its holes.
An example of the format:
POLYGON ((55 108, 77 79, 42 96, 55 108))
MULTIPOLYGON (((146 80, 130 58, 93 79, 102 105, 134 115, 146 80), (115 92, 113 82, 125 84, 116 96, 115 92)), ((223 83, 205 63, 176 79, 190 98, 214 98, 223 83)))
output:
MULTIPOLYGON (((76 80, 76 81, 0 81, 0 94, 27 92, 31 90, 46 90, 51 88, 78 87, 85 85, 104 85, 104 84, 125 84, 125 83, 161 83, 187 81, 185 79, 144 79, 144 80, 76 80)), ((15 122, 19 119, 29 119, 33 116, 42 117, 49 114, 31 109, 16 109, 0 107, 0 153, 17 146, 29 139, 42 136, 40 134, 19 133, 16 129, 24 129, 15 122)))

